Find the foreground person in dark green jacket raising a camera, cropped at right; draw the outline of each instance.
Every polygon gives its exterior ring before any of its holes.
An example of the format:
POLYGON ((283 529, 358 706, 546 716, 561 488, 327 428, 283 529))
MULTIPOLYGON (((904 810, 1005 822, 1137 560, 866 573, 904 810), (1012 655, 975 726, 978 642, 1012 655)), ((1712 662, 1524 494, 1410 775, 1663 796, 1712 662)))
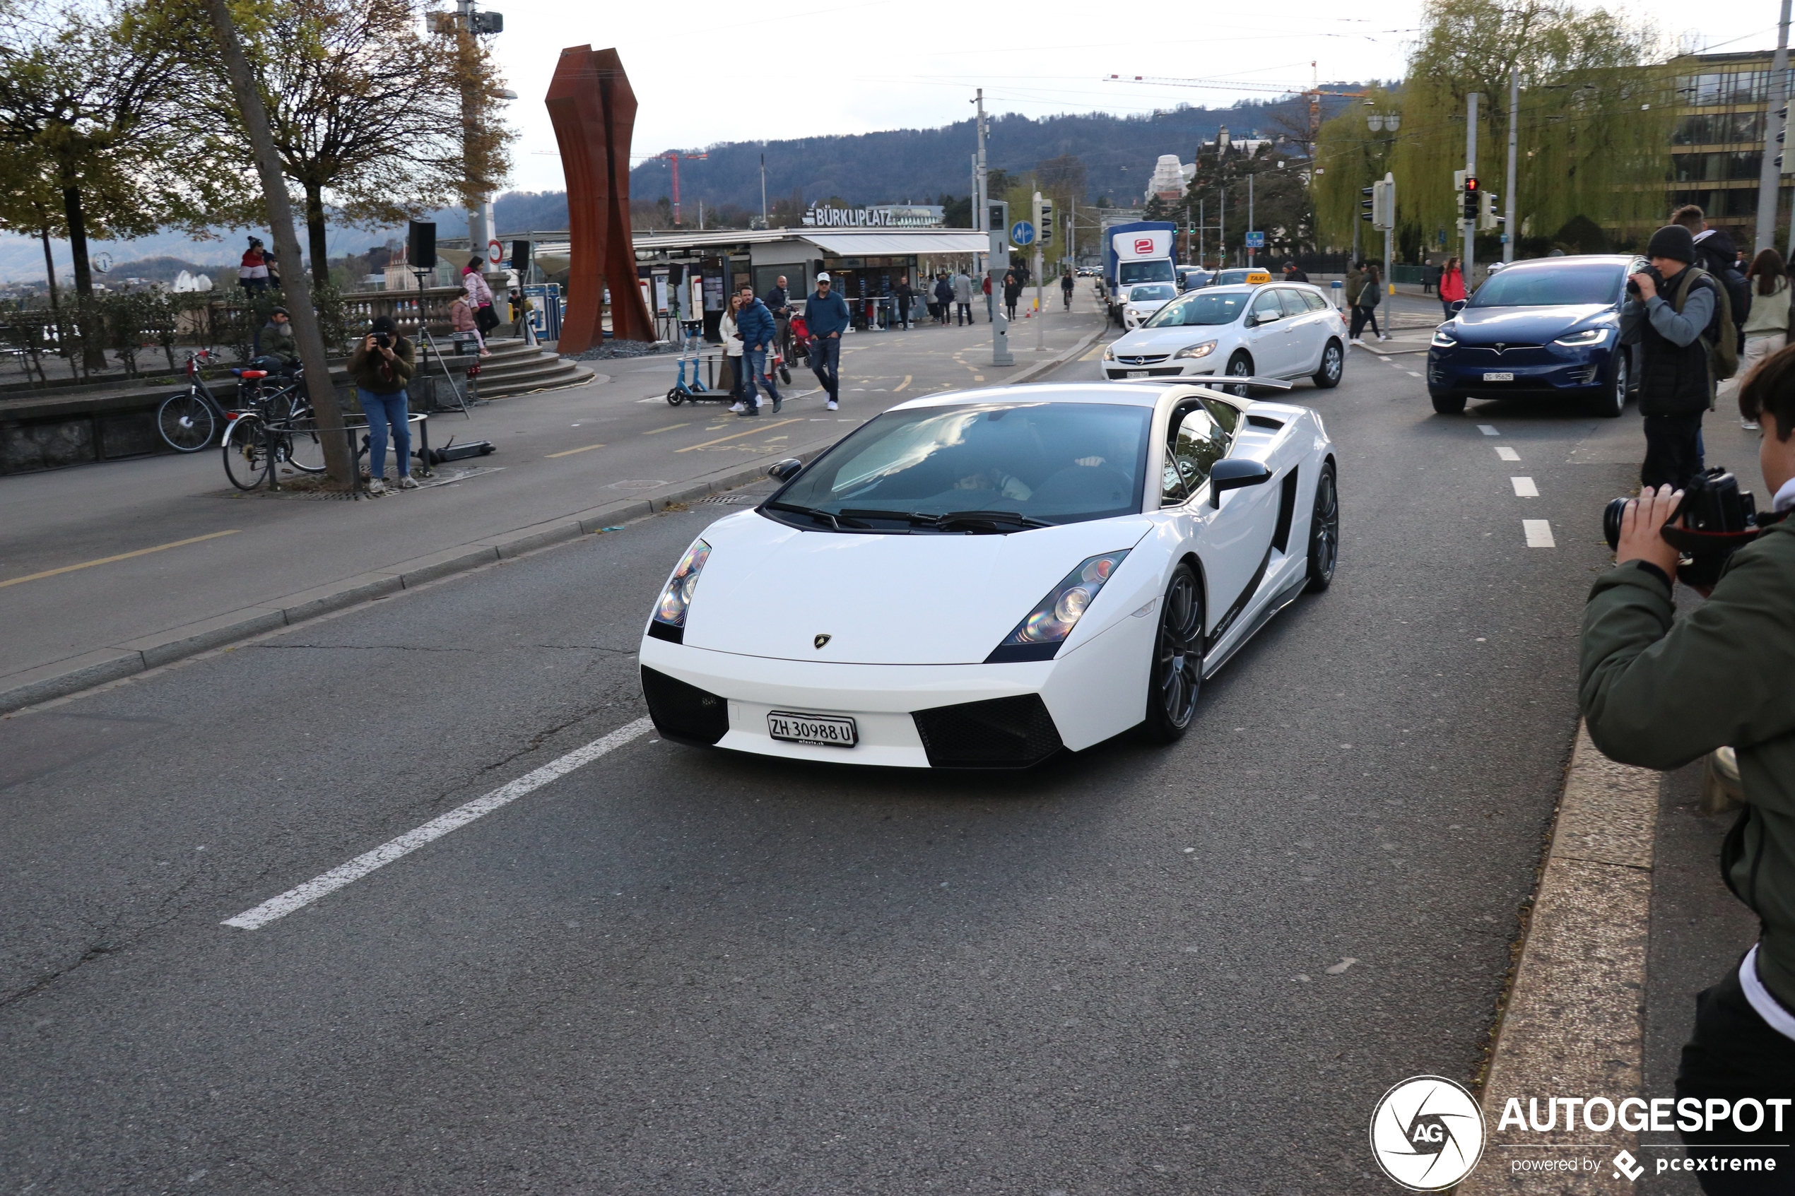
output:
MULTIPOLYGON (((1759 464, 1775 511, 1795 507, 1795 351, 1770 357, 1739 389, 1739 414, 1763 423, 1759 464)), ((1677 1097, 1766 1110, 1756 1131, 1734 1119, 1684 1131, 1702 1191, 1788 1192, 1795 1131, 1795 518, 1727 561, 1700 610, 1673 619, 1677 549, 1659 529, 1680 493, 1646 488, 1621 522, 1616 567, 1583 611, 1580 703, 1590 741, 1612 760, 1677 769, 1730 746, 1745 810, 1721 848, 1727 888, 1759 918, 1757 945, 1696 999, 1677 1097), (1781 1103, 1781 1105, 1779 1105, 1781 1103), (1781 1119, 1772 1114, 1781 1114, 1781 1119), (1727 1146, 1721 1151, 1703 1148, 1727 1146), (1743 1148, 1743 1149, 1741 1149, 1743 1148), (1734 1171, 1734 1157, 1773 1158, 1734 1171)), ((1748 1164, 1747 1164, 1748 1166, 1748 1164)))

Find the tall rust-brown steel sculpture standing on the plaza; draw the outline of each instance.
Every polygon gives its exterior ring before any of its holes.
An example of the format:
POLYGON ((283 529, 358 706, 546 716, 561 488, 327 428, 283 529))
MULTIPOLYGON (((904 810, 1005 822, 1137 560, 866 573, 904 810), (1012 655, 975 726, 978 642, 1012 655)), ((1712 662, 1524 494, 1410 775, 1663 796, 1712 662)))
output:
POLYGON ((605 339, 601 314, 610 283, 610 332, 617 341, 653 341, 630 242, 630 133, 635 91, 616 50, 562 50, 547 95, 549 120, 567 174, 567 314, 560 351, 580 353, 605 339))

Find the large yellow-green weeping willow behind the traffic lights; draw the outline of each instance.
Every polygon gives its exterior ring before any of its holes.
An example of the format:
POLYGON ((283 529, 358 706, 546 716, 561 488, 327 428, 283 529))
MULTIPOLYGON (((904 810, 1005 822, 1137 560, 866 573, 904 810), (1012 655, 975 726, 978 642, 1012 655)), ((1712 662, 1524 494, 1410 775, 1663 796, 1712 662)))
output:
MULTIPOLYGON (((1477 176, 1502 192, 1508 84, 1520 74, 1511 235, 1545 237, 1578 217, 1612 233, 1662 219, 1675 122, 1673 77, 1650 25, 1608 9, 1519 0, 1431 0, 1402 86, 1391 149, 1398 237, 1456 238, 1452 172, 1465 169, 1468 95, 1477 176)), ((1506 195, 1499 206, 1506 204, 1506 195)))

